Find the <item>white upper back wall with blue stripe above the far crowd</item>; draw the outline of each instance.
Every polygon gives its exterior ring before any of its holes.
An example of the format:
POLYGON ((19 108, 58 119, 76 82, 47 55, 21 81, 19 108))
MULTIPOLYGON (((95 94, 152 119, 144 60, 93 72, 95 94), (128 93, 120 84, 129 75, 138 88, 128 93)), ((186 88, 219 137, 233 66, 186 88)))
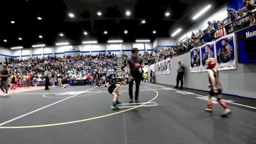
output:
POLYGON ((13 58, 28 59, 31 56, 42 58, 43 56, 57 56, 62 58, 68 54, 77 56, 79 54, 92 54, 96 56, 99 52, 115 53, 118 57, 125 52, 131 55, 131 48, 137 47, 140 49, 140 54, 143 55, 144 51, 152 51, 152 43, 123 43, 123 44, 86 44, 86 45, 64 45, 64 46, 47 46, 47 47, 33 47, 11 50, 0 47, 0 58, 5 56, 13 58), (1 57, 2 56, 2 57, 1 57))

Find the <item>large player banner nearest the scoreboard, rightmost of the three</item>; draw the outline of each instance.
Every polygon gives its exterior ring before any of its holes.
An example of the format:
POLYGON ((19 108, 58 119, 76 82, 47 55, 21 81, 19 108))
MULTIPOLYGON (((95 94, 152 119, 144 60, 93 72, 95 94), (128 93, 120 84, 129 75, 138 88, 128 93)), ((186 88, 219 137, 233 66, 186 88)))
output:
POLYGON ((218 70, 236 69, 234 34, 219 38, 215 45, 218 70))

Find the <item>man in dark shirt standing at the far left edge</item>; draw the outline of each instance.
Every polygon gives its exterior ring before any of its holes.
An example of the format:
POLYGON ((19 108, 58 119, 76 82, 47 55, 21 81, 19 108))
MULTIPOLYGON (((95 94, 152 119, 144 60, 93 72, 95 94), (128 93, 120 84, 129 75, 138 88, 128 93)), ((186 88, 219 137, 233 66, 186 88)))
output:
POLYGON ((3 91, 3 95, 6 96, 6 95, 8 95, 8 81, 7 81, 7 79, 9 77, 9 73, 6 70, 6 66, 2 67, 0 76, 1 76, 0 88, 3 91), (5 92, 4 92, 4 89, 5 89, 5 92))

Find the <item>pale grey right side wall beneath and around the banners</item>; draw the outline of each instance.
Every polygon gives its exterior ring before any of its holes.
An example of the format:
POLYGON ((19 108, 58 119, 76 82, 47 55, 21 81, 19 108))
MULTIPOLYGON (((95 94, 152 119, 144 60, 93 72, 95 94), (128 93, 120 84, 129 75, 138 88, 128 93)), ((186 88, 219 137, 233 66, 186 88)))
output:
MULTIPOLYGON (((207 88, 207 84, 209 84, 207 72, 191 73, 189 71, 189 58, 189 52, 172 58, 171 74, 156 75, 156 83, 175 86, 178 68, 177 60, 180 59, 187 67, 187 71, 184 76, 184 87, 193 88, 196 90, 209 90, 207 88)), ((256 99, 256 64, 236 63, 236 67, 237 68, 235 70, 219 71, 223 93, 256 99)))

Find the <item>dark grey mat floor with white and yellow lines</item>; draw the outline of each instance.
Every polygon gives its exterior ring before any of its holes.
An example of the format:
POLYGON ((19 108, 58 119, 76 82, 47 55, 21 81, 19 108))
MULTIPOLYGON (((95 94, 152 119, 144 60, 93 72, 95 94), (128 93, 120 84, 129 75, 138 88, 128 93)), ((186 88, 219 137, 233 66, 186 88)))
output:
POLYGON ((256 143, 255 100, 224 95, 233 114, 223 118, 219 104, 214 104, 214 113, 204 111, 206 92, 144 83, 140 104, 127 104, 127 85, 121 92, 123 104, 117 111, 110 109, 112 97, 105 87, 55 87, 2 96, 0 143, 256 143))

